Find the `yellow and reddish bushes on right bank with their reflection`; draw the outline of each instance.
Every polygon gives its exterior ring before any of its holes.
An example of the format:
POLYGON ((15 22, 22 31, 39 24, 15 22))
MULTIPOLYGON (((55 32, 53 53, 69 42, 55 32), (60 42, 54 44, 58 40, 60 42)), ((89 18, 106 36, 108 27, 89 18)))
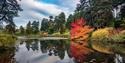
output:
MULTIPOLYGON (((119 52, 119 48, 124 48, 120 46, 119 43, 125 42, 125 31, 119 31, 112 28, 98 29, 93 32, 91 36, 92 48, 108 54, 113 54, 114 52, 119 52)), ((125 51, 121 51, 123 53, 125 51)))

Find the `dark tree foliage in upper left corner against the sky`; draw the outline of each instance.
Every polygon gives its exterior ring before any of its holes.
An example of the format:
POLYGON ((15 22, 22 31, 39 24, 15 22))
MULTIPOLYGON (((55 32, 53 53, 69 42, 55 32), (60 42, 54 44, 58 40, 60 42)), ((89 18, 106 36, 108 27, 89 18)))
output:
POLYGON ((17 0, 0 0, 0 22, 15 26, 13 18, 18 16, 19 11, 22 9, 17 0))

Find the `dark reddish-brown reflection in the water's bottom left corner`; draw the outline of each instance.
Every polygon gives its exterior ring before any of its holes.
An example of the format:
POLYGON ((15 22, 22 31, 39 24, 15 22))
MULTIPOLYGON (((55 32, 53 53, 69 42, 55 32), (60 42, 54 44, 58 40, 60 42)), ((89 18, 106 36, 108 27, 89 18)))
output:
POLYGON ((0 63, 15 63, 15 47, 0 47, 0 63))

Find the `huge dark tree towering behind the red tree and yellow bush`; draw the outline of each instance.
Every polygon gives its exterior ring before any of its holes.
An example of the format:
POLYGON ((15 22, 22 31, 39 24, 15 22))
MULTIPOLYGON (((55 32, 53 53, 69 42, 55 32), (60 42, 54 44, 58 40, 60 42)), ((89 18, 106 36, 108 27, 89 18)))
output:
POLYGON ((81 12, 87 24, 98 27, 110 26, 113 21, 112 0, 80 0, 76 12, 81 12))

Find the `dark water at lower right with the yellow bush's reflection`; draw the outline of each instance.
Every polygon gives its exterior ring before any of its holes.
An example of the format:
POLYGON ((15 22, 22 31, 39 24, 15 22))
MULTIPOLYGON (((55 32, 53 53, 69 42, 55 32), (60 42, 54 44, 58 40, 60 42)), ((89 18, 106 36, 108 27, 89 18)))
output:
POLYGON ((104 44, 99 42, 95 42, 95 43, 93 42, 92 47, 96 52, 94 52, 94 54, 90 54, 88 59, 94 58, 99 62, 105 62, 105 63, 125 63, 124 45, 125 44, 118 44, 118 43, 104 44), (96 55, 99 57, 97 57, 96 55))

